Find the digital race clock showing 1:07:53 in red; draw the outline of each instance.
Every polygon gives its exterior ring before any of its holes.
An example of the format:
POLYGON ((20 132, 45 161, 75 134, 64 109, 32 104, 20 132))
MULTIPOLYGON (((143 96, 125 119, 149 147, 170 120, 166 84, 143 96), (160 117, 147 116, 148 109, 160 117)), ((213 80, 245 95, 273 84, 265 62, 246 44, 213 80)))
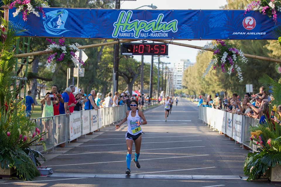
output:
POLYGON ((121 55, 168 55, 164 43, 121 43, 121 55))

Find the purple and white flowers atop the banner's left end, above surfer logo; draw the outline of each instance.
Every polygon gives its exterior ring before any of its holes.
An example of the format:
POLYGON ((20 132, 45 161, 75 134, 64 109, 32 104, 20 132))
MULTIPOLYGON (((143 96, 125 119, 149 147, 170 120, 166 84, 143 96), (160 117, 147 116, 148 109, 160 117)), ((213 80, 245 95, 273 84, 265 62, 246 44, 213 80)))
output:
POLYGON ((10 4, 10 9, 13 8, 13 6, 17 8, 16 12, 13 13, 13 16, 16 17, 20 12, 22 12, 24 21, 27 20, 27 15, 30 13, 40 17, 39 12, 41 12, 43 18, 45 18, 46 15, 42 6, 48 7, 46 4, 41 4, 39 0, 16 0, 10 4))

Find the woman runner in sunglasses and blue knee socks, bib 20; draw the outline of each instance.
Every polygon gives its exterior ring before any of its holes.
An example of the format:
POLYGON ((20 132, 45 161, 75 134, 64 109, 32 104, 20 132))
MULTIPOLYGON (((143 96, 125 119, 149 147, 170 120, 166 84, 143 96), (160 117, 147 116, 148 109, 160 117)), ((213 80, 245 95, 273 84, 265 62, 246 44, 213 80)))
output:
POLYGON ((130 108, 131 110, 126 111, 126 117, 120 123, 115 125, 115 128, 118 129, 121 124, 123 124, 126 120, 128 121, 128 129, 126 132, 126 144, 128 150, 126 156, 127 175, 131 174, 130 164, 131 164, 133 142, 135 142, 135 147, 136 147, 135 158, 133 158, 133 161, 135 162, 136 167, 140 168, 140 164, 138 163, 138 157, 140 156, 140 144, 141 144, 141 133, 142 133, 142 129, 140 125, 147 124, 143 112, 137 110, 138 102, 136 100, 132 100, 130 102, 130 108), (143 122, 141 122, 141 119, 143 119, 143 122))

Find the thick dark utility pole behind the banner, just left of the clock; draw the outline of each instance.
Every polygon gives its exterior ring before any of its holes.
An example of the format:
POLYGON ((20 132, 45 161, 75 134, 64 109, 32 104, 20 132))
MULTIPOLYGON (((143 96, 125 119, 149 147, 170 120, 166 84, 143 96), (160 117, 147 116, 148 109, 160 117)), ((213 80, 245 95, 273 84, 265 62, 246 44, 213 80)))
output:
MULTIPOLYGON (((115 0, 115 8, 120 9, 120 0, 115 0)), ((118 77, 119 77, 119 43, 114 44, 114 50, 113 50, 113 76, 115 77, 113 79, 113 93, 114 95, 115 91, 118 91, 118 77), (114 75, 115 74, 115 75, 114 75)))

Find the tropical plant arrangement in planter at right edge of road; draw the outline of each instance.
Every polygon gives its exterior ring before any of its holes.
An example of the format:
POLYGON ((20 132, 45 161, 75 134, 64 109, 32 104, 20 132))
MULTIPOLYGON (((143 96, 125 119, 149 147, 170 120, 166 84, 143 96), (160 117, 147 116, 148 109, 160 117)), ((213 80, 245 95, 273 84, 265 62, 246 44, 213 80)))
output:
MULTIPOLYGON (((275 81, 268 75, 263 74, 259 82, 265 86, 271 86, 274 100, 270 104, 271 110, 276 111, 276 106, 281 104, 281 84, 280 80, 275 81)), ((280 116, 275 112, 275 116, 280 120, 280 116)), ((248 153, 244 162, 244 174, 249 175, 247 180, 259 179, 266 175, 271 182, 281 181, 281 126, 275 121, 266 117, 265 123, 251 126, 251 143, 258 147, 258 152, 248 153), (278 176, 279 174, 279 176, 278 176)))

